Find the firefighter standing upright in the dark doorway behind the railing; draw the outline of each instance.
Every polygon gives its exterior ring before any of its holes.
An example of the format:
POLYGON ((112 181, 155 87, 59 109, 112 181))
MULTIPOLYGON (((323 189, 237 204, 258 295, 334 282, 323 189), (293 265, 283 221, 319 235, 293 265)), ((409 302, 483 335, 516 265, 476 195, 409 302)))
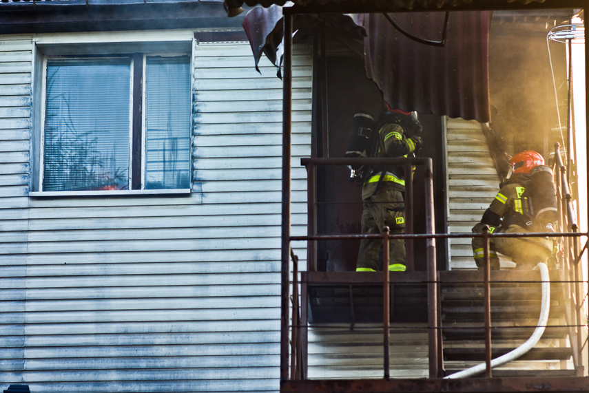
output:
MULTIPOLYGON (((388 107, 388 105, 387 105, 388 107)), ((381 114, 375 129, 378 130, 376 157, 406 157, 422 145, 422 131, 411 112, 388 109, 381 114)), ((348 151, 347 156, 353 156, 348 151)), ((404 167, 371 168, 362 178, 362 233, 381 233, 389 226, 390 233, 404 233, 404 167)), ((362 239, 356 271, 376 271, 379 268, 382 240, 362 239)), ((391 239, 389 243, 389 270, 405 270, 404 239, 391 239)))

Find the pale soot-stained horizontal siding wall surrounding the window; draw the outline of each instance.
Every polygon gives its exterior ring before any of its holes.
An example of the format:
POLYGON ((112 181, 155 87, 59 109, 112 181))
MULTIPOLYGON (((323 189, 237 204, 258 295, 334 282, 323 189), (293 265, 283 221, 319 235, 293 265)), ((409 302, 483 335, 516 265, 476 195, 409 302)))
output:
MULTIPOLYGON (((302 234, 311 58, 294 63, 293 233, 302 234)), ((278 391, 273 67, 258 74, 247 43, 194 45, 189 198, 29 199, 31 64, 30 38, 0 38, 0 389, 278 391)))

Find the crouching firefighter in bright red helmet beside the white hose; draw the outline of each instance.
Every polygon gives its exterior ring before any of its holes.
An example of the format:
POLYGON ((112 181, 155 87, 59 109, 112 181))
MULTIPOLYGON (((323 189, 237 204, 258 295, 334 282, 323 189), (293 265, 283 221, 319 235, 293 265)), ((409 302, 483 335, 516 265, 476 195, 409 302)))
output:
MULTIPOLYGON (((541 154, 531 150, 517 153, 510 164, 508 179, 473 232, 481 233, 484 225, 490 233, 553 232, 557 202, 552 170, 544 165, 541 154)), ((533 268, 552 256, 548 237, 491 237, 489 243, 493 270, 499 269, 497 253, 511 257, 516 268, 533 268)), ((473 237, 473 256, 479 268, 484 267, 483 247, 482 237, 473 237)))

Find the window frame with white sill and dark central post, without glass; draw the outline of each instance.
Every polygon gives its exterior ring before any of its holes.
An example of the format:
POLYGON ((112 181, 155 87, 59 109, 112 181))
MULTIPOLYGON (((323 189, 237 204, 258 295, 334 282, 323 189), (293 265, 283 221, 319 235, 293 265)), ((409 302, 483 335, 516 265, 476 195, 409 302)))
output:
MULTIPOLYGON (((32 100, 36 105, 33 105, 32 116, 32 151, 31 151, 31 165, 32 165, 32 184, 29 196, 31 197, 61 197, 61 196, 83 196, 83 195, 189 195, 192 192, 192 132, 194 125, 193 119, 193 55, 192 55, 192 32, 189 33, 189 38, 184 36, 182 40, 178 41, 124 41, 111 43, 45 43, 34 42, 34 74, 32 81, 32 100), (189 132, 188 135, 188 184, 187 188, 180 189, 145 189, 146 186, 146 146, 147 146, 147 132, 146 132, 146 64, 147 57, 161 56, 161 57, 180 57, 189 56, 189 132), (131 60, 130 70, 130 162, 129 162, 129 189, 126 190, 92 190, 92 191, 43 191, 43 177, 44 177, 44 158, 45 158, 45 116, 46 116, 46 78, 47 78, 47 62, 53 59, 89 59, 89 58, 121 58, 127 57, 131 60), (141 67, 136 67, 136 61, 141 59, 141 67), (137 78, 140 81, 137 81, 137 78), (141 83, 137 85, 137 83, 141 83), (37 87, 38 86, 38 87, 37 87), (139 87, 138 91, 136 87, 139 87), (138 123, 138 124, 137 124, 138 123), (134 160, 134 154, 138 153, 138 159, 134 160), (135 171, 135 173, 132 173, 135 171), (139 176, 136 176, 138 173, 139 176), (133 183, 132 183, 133 182, 133 183), (135 188, 134 188, 135 187, 135 188), (138 187, 138 188, 137 188, 138 187)), ((72 37, 76 40, 76 37, 72 37)), ((50 39, 48 41, 54 41, 50 39)), ((57 40, 61 41, 61 40, 57 40)))

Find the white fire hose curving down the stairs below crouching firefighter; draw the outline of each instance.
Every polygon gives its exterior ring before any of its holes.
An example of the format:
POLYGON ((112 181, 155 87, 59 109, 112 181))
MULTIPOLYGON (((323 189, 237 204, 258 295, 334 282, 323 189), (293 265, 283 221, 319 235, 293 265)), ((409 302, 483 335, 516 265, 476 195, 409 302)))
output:
MULTIPOLYGON (((548 273, 548 266, 544 263, 539 263, 536 266, 540 269, 540 277, 542 280, 542 305, 540 310, 540 317, 538 319, 538 324, 536 329, 525 343, 521 344, 521 346, 515 348, 515 350, 508 352, 497 359, 491 360, 491 368, 497 367, 499 365, 503 365, 510 361, 521 357, 521 355, 528 352, 532 349, 544 334, 544 330, 546 329, 546 323, 548 323, 548 312, 550 312, 550 274, 548 273)), ((444 376, 444 379, 455 379, 455 378, 467 378, 468 376, 473 376, 475 374, 479 374, 486 370, 486 363, 480 363, 474 365, 471 368, 467 368, 466 370, 462 370, 459 372, 455 372, 454 374, 450 374, 444 376)))

